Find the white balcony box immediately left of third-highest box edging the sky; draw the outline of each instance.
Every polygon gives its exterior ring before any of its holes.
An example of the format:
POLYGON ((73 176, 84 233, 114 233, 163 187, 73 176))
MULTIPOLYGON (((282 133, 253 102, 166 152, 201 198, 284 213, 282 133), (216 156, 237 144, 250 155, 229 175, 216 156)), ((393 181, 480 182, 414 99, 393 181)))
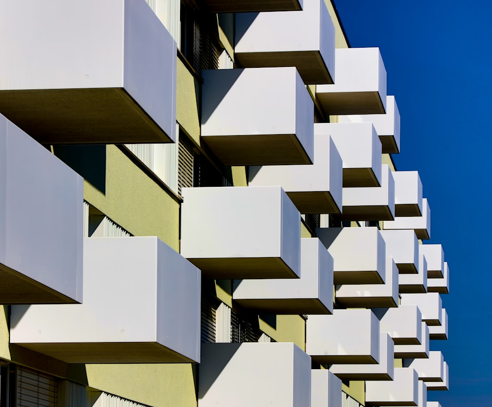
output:
POLYGON ((395 181, 390 167, 383 164, 381 186, 343 188, 342 220, 369 221, 395 218, 395 181))

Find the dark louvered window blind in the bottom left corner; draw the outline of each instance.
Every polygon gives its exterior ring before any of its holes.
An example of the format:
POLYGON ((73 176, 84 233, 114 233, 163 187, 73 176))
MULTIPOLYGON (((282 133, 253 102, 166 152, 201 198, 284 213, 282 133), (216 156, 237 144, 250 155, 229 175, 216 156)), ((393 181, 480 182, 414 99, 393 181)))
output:
POLYGON ((56 407, 57 381, 55 378, 18 367, 17 407, 56 407))

